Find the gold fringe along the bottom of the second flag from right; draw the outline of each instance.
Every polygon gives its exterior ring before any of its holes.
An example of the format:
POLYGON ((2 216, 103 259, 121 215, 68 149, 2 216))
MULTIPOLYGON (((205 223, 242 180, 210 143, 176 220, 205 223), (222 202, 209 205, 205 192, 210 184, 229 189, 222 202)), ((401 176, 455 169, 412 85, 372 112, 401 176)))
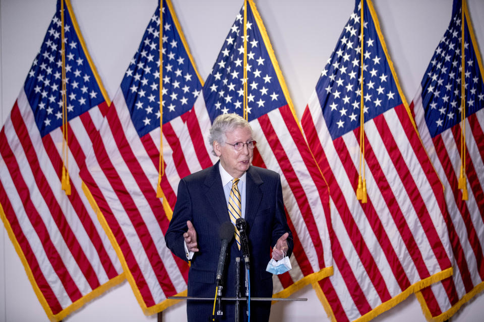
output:
MULTIPOLYGON (((445 270, 443 270, 439 273, 436 273, 432 276, 429 276, 425 279, 422 279, 422 280, 410 285, 406 290, 404 290, 400 294, 398 294, 398 295, 392 297, 391 299, 389 299, 388 301, 378 305, 377 307, 375 307, 373 310, 369 311, 365 315, 361 315, 357 319, 353 320, 353 322, 368 322, 369 320, 376 317, 377 315, 379 315, 379 314, 381 314, 385 311, 388 311, 390 308, 392 308, 395 305, 397 305, 398 303, 402 302, 410 294, 412 294, 412 293, 417 294, 417 292, 419 293, 419 291, 422 288, 425 288, 425 287, 430 286, 434 283, 437 283, 437 282, 439 282, 439 281, 441 281, 441 280, 443 280, 443 279, 445 279, 449 276, 452 276, 452 273, 453 273, 453 269, 452 269, 452 267, 450 267, 450 268, 445 269, 445 270)), ((484 287, 484 285, 483 285, 483 287, 484 287)), ((333 313, 333 310, 331 309, 331 306, 329 305, 328 300, 326 299, 326 296, 324 295, 323 290, 321 289, 321 286, 318 283, 313 283, 313 288, 315 289, 316 295, 320 299, 321 304, 323 304, 323 307, 324 307, 326 313, 328 314, 328 317, 331 319, 331 322, 336 322, 336 317, 333 313)), ((442 319, 442 320, 444 320, 444 319, 442 319)))

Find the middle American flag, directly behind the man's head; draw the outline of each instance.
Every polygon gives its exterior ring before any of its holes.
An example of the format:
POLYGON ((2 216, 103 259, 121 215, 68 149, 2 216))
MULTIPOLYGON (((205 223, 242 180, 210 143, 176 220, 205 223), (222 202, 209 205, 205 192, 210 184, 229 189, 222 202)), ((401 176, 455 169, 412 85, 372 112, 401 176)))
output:
MULTIPOLYGON (((200 124, 208 124, 203 131, 204 137, 208 137, 208 128, 218 115, 232 112, 243 115, 243 85, 247 82, 248 121, 257 141, 253 165, 280 174, 286 217, 294 237, 292 270, 273 279, 275 295, 288 296, 332 273, 328 189, 295 118, 262 19, 254 2, 247 4, 246 25, 243 6, 202 95, 195 102, 193 115, 200 124), (245 28, 247 79, 244 78, 245 28)), ((211 151, 208 146, 207 149, 211 151)))

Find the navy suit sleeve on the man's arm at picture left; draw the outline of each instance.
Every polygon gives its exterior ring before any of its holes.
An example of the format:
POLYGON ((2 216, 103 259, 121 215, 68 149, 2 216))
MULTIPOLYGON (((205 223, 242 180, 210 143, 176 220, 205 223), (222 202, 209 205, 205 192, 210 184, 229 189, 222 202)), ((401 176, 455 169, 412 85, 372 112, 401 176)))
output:
POLYGON ((187 220, 193 222, 192 202, 187 184, 182 179, 178 184, 175 209, 165 233, 165 243, 173 254, 186 262, 188 262, 188 259, 183 234, 188 230, 187 220))

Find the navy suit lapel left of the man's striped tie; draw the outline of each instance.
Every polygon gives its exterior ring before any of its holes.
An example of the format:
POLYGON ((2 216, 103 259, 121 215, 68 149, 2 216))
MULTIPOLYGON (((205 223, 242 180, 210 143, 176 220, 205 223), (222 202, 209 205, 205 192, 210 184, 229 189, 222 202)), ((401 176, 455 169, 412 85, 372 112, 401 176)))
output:
POLYGON ((230 220, 228 216, 227 202, 223 193, 222 179, 220 179, 220 172, 217 162, 205 178, 205 197, 212 206, 215 215, 220 223, 230 220))

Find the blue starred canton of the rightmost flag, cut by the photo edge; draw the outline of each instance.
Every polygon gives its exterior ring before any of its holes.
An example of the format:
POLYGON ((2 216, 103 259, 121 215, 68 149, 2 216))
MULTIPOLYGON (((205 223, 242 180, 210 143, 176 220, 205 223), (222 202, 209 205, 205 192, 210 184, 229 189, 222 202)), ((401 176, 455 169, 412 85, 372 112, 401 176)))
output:
MULTIPOLYGON (((462 36, 461 3, 454 2, 453 17, 422 79, 422 105, 430 135, 435 137, 461 121, 462 36)), ((484 83, 470 38, 464 25, 465 115, 480 110, 484 83)))

